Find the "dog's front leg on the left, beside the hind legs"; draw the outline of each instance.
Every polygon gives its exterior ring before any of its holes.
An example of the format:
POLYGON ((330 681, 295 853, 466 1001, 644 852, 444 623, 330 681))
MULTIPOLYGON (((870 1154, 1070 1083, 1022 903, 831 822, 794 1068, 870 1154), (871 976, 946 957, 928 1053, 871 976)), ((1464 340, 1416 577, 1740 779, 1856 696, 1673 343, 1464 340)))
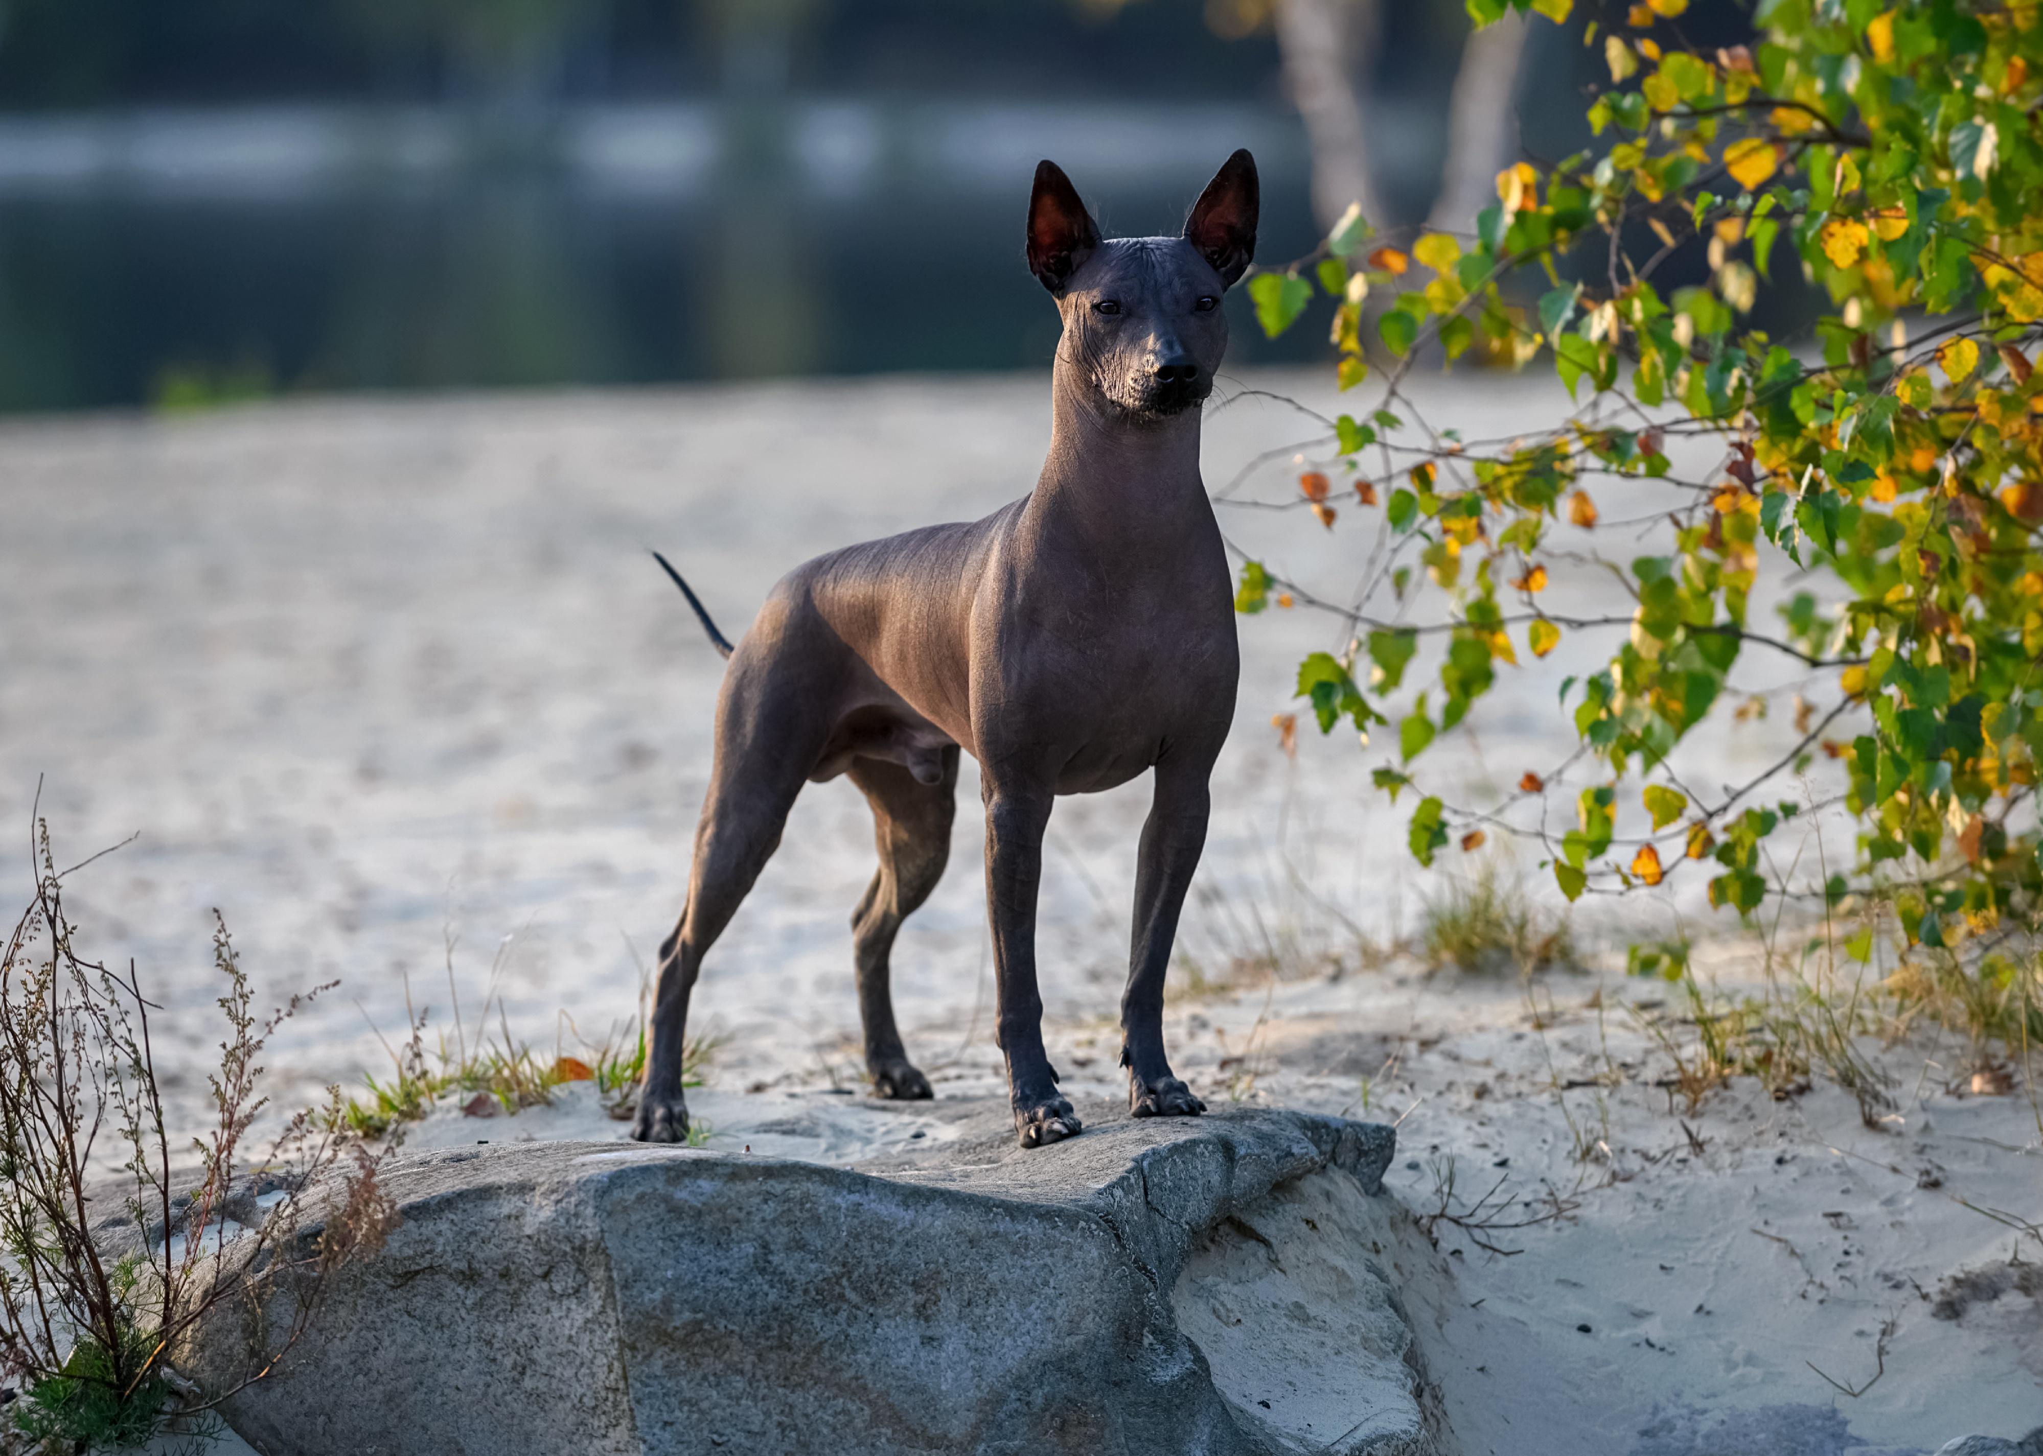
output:
POLYGON ((1042 992, 1036 988, 1036 892, 1052 792, 1042 784, 1003 784, 989 774, 985 803, 987 915, 999 999, 995 1035, 1007 1056, 1015 1131, 1024 1148, 1038 1148, 1083 1125, 1056 1093, 1056 1070, 1042 1050, 1042 992))

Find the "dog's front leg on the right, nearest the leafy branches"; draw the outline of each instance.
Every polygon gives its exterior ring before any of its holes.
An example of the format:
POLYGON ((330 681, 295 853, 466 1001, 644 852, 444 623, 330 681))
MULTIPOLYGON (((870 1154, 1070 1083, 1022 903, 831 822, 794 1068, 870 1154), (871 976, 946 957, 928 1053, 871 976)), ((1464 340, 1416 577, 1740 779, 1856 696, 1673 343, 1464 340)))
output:
POLYGON ((1136 868, 1134 943, 1128 990, 1122 992, 1122 1066, 1128 1068, 1128 1111, 1136 1117, 1203 1113, 1205 1103, 1171 1074, 1162 1050, 1162 978, 1171 968, 1177 917, 1205 847, 1207 764, 1156 766, 1156 794, 1142 825, 1136 868))

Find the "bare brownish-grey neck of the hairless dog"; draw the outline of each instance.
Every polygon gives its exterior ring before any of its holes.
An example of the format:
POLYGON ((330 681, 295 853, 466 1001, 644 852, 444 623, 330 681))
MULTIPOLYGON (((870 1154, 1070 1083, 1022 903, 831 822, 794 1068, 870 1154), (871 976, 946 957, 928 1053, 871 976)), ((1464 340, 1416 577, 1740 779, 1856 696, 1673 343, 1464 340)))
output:
POLYGON ((1148 549, 1209 529, 1197 408, 1130 415, 1062 357, 1050 394, 1050 453, 1030 500, 1040 521, 1054 519, 1103 549, 1148 549))

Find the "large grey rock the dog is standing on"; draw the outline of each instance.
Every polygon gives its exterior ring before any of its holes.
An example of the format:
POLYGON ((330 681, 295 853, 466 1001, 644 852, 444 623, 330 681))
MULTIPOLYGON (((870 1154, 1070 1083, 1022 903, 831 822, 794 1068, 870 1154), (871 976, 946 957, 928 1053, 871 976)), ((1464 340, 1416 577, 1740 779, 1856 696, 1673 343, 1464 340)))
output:
POLYGON ((958 1135, 852 1168, 400 1156, 402 1225, 229 1421, 274 1456, 1436 1450, 1371 1258, 1391 1129, 1081 1111, 1017 1152, 938 1103, 958 1135))

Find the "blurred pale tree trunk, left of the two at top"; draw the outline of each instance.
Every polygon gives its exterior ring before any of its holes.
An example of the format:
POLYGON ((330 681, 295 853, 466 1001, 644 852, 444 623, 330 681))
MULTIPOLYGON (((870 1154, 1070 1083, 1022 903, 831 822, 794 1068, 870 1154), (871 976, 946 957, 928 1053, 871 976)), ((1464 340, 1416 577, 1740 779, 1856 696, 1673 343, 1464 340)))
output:
MULTIPOLYGON (((1277 0, 1277 51, 1285 90, 1305 123, 1312 147, 1312 210, 1332 229, 1350 202, 1383 227, 1369 147, 1363 137, 1363 96, 1375 51, 1381 0, 1277 0)), ((1459 90, 1457 90, 1459 96, 1459 90)))

